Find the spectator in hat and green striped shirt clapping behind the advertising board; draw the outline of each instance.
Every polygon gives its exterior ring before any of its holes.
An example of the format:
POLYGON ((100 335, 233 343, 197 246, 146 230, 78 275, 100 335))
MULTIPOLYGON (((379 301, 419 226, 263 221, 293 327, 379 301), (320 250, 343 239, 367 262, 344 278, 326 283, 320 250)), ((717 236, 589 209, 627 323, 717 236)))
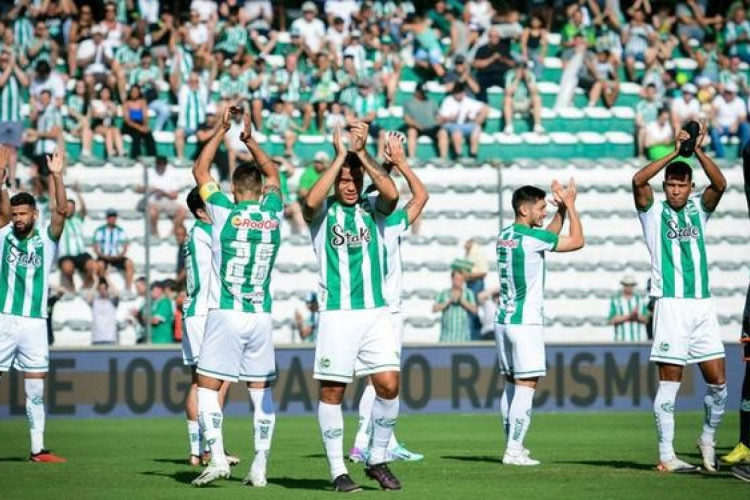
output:
POLYGON ((442 313, 440 342, 468 342, 471 340, 469 315, 477 313, 474 293, 466 288, 464 273, 451 272, 451 287, 440 292, 432 306, 442 313))

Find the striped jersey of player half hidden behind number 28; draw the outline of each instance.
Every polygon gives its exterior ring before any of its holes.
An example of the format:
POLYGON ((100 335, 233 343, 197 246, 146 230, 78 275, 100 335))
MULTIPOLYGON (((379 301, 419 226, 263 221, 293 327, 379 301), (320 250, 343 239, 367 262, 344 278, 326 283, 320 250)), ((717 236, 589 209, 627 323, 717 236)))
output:
POLYGON ((196 220, 183 248, 187 299, 182 305, 185 318, 208 314, 211 280, 211 224, 196 220))

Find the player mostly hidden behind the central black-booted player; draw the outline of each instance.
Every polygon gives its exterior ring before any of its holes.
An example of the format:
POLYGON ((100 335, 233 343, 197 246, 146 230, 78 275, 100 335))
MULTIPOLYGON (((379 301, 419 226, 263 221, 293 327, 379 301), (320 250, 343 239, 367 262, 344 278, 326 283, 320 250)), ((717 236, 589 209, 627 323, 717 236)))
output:
MULTIPOLYGON (((396 168, 406 179, 411 191, 412 198, 402 209, 395 210, 385 221, 385 250, 386 250, 386 275, 385 295, 390 311, 392 333, 395 335, 396 343, 401 350, 404 341, 404 320, 401 315, 401 289, 403 283, 403 263, 401 262, 401 236, 405 234, 409 226, 417 220, 424 209, 429 194, 422 181, 414 173, 406 161, 401 136, 388 134, 385 145, 385 169, 390 172, 396 168)), ((374 188, 373 186, 370 186, 374 188)), ((349 450, 349 460, 352 462, 366 462, 367 453, 372 439, 372 406, 375 403, 375 387, 368 383, 359 400, 359 429, 354 439, 354 447, 349 450)), ((396 440, 396 433, 391 434, 388 443, 388 459, 417 461, 424 456, 420 453, 409 451, 396 440)))

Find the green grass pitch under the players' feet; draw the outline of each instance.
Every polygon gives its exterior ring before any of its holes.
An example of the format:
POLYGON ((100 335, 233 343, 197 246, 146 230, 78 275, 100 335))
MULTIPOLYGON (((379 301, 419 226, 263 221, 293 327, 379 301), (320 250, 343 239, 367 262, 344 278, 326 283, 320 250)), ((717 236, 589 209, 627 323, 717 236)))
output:
MULTIPOLYGON (((677 417, 678 454, 698 463, 694 442, 702 417, 698 413, 678 413, 677 417)), ((346 426, 349 445, 355 418, 347 418, 346 426)), ((225 443, 241 456, 242 463, 230 480, 196 489, 189 483, 199 469, 185 464, 187 437, 181 419, 50 420, 46 444, 69 460, 60 465, 26 462, 26 422, 5 420, 0 422, 0 498, 333 495, 312 417, 280 418, 268 487, 243 486, 241 480, 250 465, 251 429, 248 419, 225 421, 225 443)), ((735 412, 730 412, 719 431, 722 451, 735 444, 736 429, 735 412)), ((750 485, 728 472, 692 476, 655 472, 655 432, 647 413, 537 415, 526 444, 542 465, 530 469, 500 463, 502 438, 494 415, 404 416, 398 434, 410 448, 426 455, 423 462, 393 466, 404 485, 395 493, 401 498, 750 498, 750 485)), ((366 488, 361 495, 389 495, 364 478, 361 466, 352 464, 350 472, 366 488)))

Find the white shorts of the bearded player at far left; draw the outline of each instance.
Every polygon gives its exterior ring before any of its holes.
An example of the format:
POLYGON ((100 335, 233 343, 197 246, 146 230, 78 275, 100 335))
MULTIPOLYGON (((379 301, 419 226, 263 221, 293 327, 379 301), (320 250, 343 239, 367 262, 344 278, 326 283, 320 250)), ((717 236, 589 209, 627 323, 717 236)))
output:
POLYGON ((0 372, 11 367, 31 373, 49 371, 45 319, 0 314, 0 372))

